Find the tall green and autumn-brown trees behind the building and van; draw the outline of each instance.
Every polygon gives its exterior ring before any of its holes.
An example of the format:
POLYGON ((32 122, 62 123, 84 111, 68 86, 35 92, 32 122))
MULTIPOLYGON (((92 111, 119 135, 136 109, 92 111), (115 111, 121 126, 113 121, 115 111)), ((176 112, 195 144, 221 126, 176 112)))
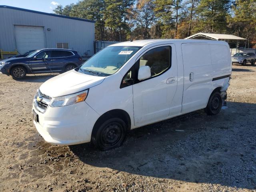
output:
POLYGON ((58 5, 54 13, 94 20, 96 40, 209 32, 234 34, 256 46, 256 0, 80 0, 58 5))

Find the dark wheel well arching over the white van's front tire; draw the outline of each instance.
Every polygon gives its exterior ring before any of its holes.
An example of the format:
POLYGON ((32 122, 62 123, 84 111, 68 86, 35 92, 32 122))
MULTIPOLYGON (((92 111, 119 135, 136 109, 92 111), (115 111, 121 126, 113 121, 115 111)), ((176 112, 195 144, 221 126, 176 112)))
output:
POLYGON ((100 124, 102 124, 102 122, 104 120, 109 119, 109 118, 120 118, 120 119, 122 119, 127 125, 127 130, 130 130, 130 128, 131 128, 131 118, 130 118, 129 114, 126 111, 122 110, 122 109, 110 110, 110 111, 104 113, 102 116, 100 116, 98 118, 98 120, 96 121, 96 123, 94 124, 93 129, 92 129, 91 140, 95 138, 98 127, 100 126, 100 124))

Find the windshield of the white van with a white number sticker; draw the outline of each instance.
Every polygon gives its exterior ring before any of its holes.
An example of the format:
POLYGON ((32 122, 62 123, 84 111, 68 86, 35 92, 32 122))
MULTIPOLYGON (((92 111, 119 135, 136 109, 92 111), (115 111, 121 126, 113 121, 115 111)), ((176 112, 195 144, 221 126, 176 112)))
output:
POLYGON ((106 47, 84 62, 78 72, 96 76, 110 76, 117 72, 141 47, 106 47))

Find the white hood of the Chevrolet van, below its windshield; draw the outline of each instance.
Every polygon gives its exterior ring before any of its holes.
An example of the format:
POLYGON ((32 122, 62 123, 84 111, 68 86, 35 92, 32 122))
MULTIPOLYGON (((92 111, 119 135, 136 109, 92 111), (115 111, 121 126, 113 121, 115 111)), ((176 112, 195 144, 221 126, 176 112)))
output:
POLYGON ((92 76, 70 70, 50 78, 40 86, 40 92, 50 97, 73 94, 96 86, 103 82, 105 77, 92 76))

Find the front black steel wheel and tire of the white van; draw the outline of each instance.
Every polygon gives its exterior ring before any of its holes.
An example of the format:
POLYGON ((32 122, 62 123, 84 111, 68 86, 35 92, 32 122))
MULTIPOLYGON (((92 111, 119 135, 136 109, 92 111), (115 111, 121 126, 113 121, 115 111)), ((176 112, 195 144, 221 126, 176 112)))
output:
POLYGON ((103 120, 93 140, 94 146, 102 151, 120 147, 124 142, 126 132, 127 125, 122 119, 103 120))

